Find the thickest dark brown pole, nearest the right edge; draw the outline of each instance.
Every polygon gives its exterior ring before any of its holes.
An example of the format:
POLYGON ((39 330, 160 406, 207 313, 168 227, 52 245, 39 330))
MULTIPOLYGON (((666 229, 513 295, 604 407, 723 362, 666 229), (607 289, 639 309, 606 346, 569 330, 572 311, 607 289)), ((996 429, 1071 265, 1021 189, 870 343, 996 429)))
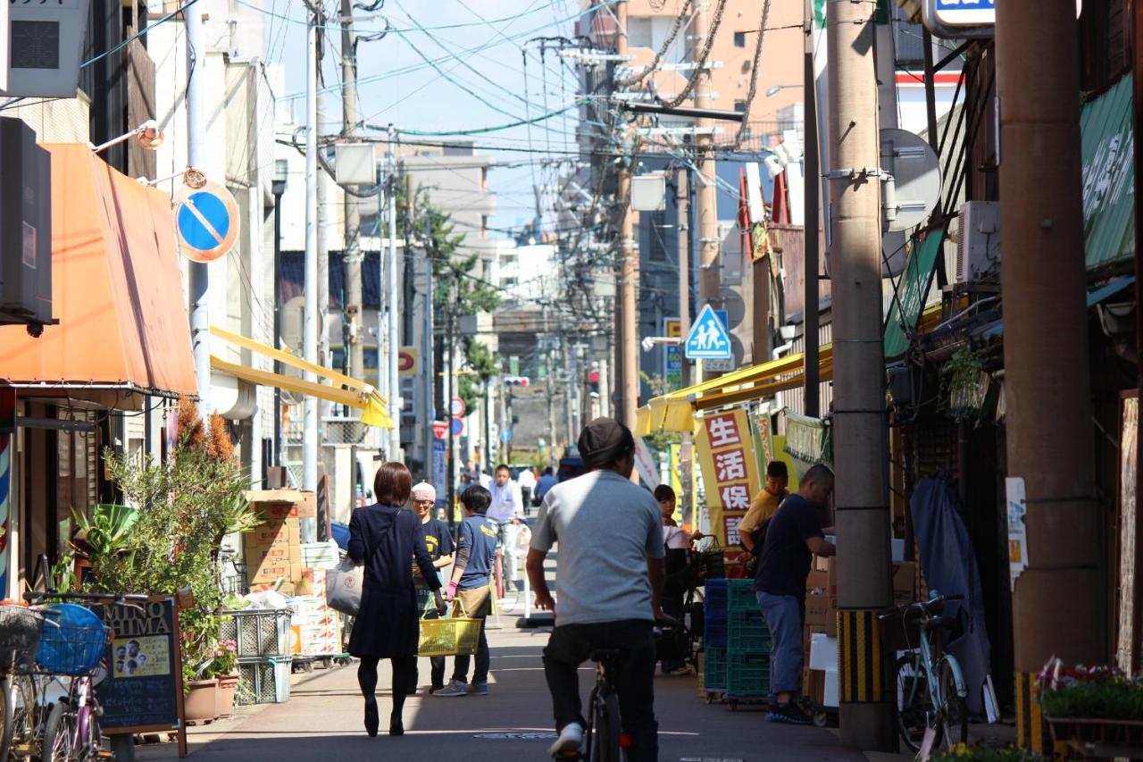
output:
MULTIPOLYGON (((1008 495, 1013 479, 1023 482, 1028 509, 1028 566, 1012 596, 1015 677, 1017 697, 1031 691, 1034 701, 1036 673, 1049 657, 1068 665, 1108 659, 1086 364, 1076 17, 1069 8, 1045 13, 1034 0, 1006 0, 997 7, 996 50, 1000 198, 1008 199, 1000 205, 1008 495)), ((1042 724, 1025 729, 1039 713, 1029 715, 1017 723, 1021 746, 1050 752, 1042 724)))

